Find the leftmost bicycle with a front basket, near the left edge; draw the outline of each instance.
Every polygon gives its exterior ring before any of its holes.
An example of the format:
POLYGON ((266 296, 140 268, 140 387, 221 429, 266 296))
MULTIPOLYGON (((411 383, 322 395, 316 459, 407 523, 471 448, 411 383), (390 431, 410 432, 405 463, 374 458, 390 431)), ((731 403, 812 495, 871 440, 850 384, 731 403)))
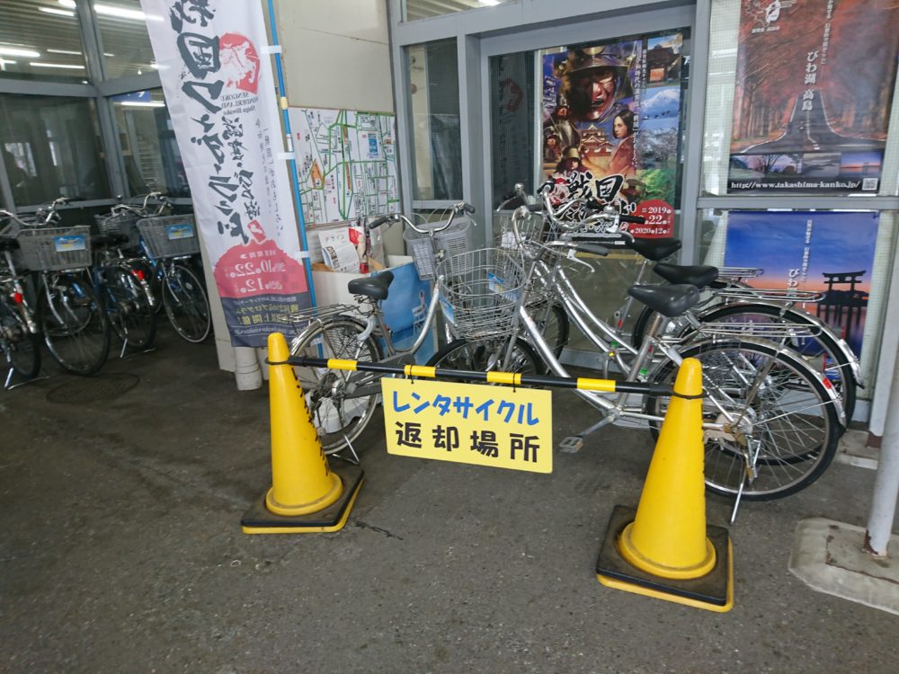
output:
POLYGON ((38 276, 36 323, 50 355, 67 372, 86 376, 106 362, 110 326, 88 279, 90 228, 49 226, 58 221, 57 208, 66 202, 60 198, 38 211, 43 219, 37 226, 8 211, 0 216, 12 221, 7 234, 19 244, 19 266, 38 276))

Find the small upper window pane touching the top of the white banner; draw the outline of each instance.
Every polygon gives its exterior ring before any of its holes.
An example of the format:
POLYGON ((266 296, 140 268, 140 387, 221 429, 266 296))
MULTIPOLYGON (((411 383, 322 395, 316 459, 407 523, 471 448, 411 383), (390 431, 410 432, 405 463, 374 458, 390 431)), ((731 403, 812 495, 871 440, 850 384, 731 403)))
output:
POLYGON ((100 29, 106 79, 144 75, 156 69, 140 0, 94 3, 93 13, 100 29))

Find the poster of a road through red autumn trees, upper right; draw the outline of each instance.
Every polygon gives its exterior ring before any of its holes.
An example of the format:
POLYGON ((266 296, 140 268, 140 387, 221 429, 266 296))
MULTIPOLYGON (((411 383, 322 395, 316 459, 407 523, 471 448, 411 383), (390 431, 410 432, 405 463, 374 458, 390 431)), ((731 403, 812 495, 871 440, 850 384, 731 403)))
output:
POLYGON ((876 193, 897 46, 892 0, 742 0, 729 191, 876 193))

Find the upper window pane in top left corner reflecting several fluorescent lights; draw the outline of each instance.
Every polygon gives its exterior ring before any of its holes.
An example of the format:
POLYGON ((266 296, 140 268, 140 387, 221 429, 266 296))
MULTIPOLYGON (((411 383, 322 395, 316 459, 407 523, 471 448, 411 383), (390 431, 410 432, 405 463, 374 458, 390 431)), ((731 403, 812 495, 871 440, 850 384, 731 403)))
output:
POLYGON ((0 3, 0 77, 87 80, 74 0, 0 3))

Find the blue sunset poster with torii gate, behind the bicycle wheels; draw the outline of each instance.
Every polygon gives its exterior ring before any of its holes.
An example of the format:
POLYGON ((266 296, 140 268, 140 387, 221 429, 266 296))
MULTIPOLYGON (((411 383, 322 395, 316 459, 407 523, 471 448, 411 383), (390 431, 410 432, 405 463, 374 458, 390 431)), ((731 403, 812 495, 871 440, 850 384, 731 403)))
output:
POLYGON ((805 310, 836 329, 858 355, 877 244, 876 212, 731 211, 725 265, 761 267, 755 288, 824 294, 805 310))

